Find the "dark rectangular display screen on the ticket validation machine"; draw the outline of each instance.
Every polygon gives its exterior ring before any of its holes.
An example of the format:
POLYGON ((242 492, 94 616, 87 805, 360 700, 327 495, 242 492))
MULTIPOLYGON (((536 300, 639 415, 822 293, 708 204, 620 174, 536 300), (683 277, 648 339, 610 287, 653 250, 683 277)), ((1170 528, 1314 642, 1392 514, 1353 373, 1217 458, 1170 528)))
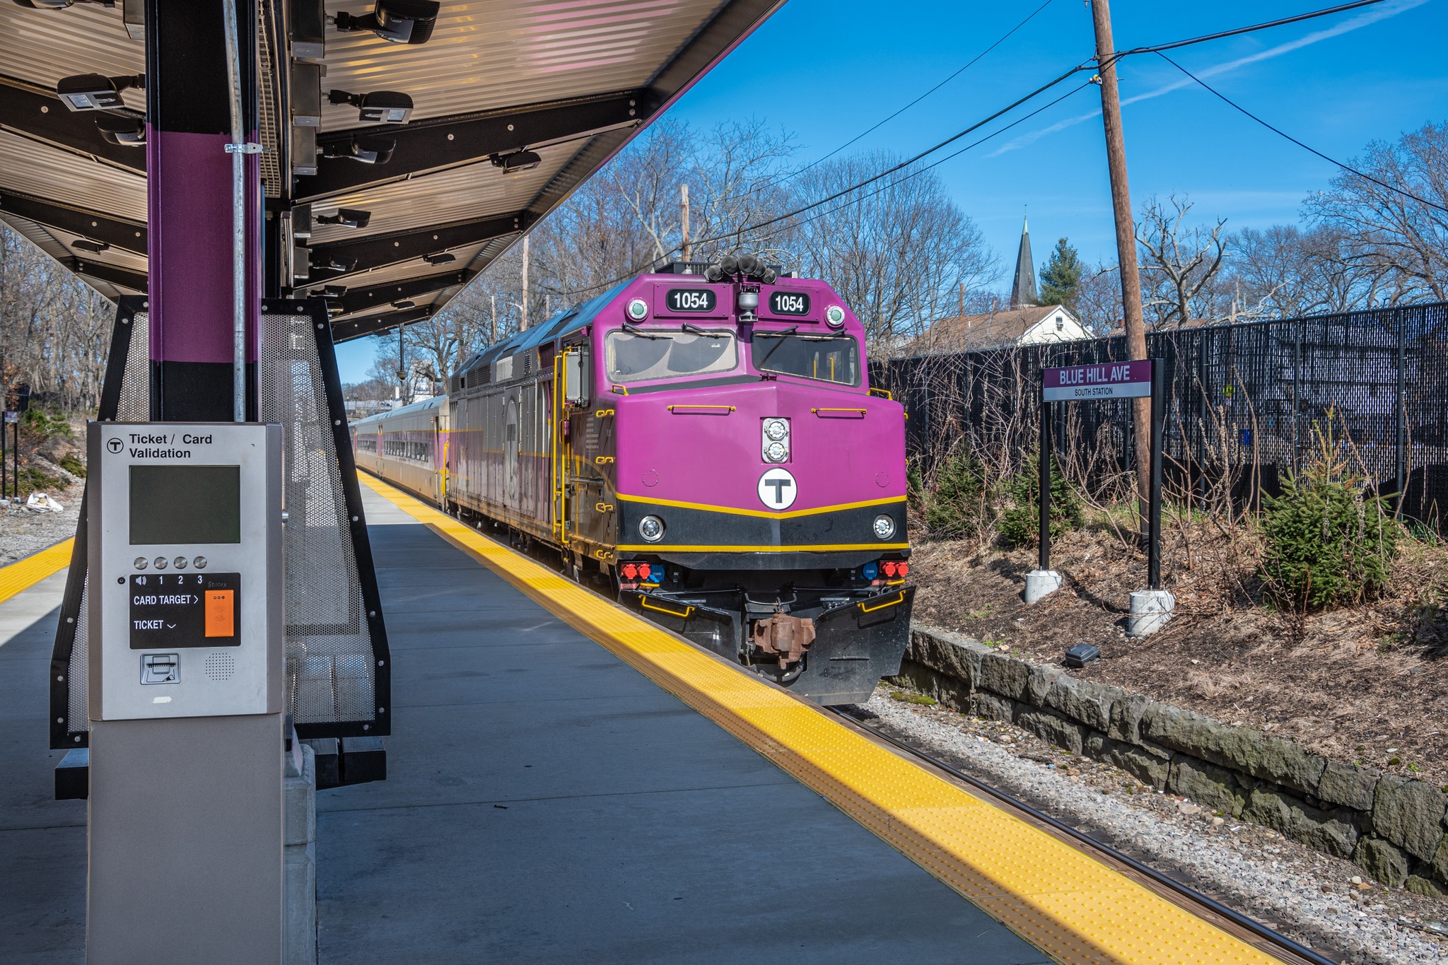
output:
POLYGON ((240 541, 240 466, 130 467, 132 545, 240 541))

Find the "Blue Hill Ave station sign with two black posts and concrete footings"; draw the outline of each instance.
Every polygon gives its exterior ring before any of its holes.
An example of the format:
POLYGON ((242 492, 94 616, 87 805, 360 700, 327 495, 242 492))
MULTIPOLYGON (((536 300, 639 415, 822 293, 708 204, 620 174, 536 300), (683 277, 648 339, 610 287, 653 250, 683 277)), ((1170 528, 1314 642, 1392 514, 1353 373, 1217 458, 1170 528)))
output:
POLYGON ((1127 634, 1145 637, 1170 618, 1173 598, 1161 589, 1161 437, 1166 424, 1166 366, 1161 359, 1073 365, 1041 370, 1041 553, 1040 569, 1025 577, 1025 602, 1058 589, 1051 571, 1051 402, 1151 398, 1151 485, 1147 506, 1147 589, 1131 595, 1127 634))

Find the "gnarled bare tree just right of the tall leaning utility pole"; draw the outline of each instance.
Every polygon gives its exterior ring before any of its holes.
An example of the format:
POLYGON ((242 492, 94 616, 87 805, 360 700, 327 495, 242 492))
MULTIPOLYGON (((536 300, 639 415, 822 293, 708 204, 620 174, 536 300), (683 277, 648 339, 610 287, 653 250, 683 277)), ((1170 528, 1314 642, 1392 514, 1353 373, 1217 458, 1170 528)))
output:
POLYGON ((1216 315, 1213 282, 1226 256, 1226 218, 1212 227, 1189 226, 1192 207, 1186 197, 1173 194, 1166 203, 1153 197, 1137 223, 1142 308, 1158 328, 1216 315))

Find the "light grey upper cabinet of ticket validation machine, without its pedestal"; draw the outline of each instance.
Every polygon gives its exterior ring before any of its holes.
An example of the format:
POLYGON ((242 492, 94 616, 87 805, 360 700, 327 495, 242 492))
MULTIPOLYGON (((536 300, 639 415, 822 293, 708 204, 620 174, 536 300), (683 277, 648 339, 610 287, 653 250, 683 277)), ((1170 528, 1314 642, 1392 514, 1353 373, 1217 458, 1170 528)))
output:
POLYGON ((90 719, 281 712, 281 427, 87 428, 90 719))

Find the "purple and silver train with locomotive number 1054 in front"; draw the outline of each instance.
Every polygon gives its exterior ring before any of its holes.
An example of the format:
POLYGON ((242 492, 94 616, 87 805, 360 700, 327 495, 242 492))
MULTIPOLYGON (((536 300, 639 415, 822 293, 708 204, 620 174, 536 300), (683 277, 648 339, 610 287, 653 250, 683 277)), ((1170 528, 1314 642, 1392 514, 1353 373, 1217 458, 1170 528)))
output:
POLYGON ((818 703, 899 671, 905 411, 822 281, 641 273, 350 434, 361 469, 818 703))

